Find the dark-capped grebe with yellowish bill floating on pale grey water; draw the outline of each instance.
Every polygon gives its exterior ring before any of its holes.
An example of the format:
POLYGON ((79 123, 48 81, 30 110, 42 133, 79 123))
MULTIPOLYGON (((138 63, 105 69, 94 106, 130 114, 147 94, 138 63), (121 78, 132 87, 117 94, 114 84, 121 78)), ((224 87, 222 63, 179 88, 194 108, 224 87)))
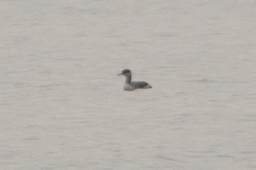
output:
POLYGON ((120 74, 118 74, 118 76, 119 75, 126 76, 126 81, 124 86, 125 91, 132 91, 137 88, 152 88, 151 85, 149 85, 147 82, 131 81, 131 70, 129 69, 123 70, 120 74))

